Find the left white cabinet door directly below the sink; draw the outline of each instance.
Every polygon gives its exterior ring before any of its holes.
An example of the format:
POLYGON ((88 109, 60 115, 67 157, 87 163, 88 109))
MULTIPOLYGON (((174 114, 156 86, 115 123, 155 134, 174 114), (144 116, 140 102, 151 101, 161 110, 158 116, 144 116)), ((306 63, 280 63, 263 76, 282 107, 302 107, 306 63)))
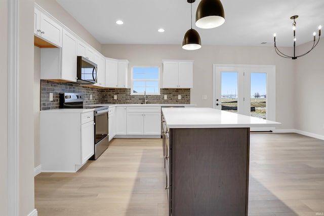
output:
POLYGON ((127 134, 143 135, 144 134, 144 114, 127 113, 127 134))

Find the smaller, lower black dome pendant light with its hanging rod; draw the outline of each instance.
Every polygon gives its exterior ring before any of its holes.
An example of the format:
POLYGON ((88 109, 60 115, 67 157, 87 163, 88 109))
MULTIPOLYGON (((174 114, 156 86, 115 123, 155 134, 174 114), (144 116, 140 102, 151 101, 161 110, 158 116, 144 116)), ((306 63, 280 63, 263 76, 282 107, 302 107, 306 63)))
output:
POLYGON ((184 34, 182 49, 197 50, 201 48, 201 41, 198 32, 192 29, 192 3, 194 3, 195 0, 187 0, 187 2, 190 3, 191 7, 191 28, 184 34))

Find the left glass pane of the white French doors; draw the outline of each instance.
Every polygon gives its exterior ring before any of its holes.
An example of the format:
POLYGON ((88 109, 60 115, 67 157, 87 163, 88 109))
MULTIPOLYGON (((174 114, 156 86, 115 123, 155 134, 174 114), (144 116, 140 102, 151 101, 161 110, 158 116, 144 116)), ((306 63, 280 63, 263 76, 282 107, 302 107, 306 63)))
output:
POLYGON ((222 110, 237 113, 237 72, 221 73, 222 110))

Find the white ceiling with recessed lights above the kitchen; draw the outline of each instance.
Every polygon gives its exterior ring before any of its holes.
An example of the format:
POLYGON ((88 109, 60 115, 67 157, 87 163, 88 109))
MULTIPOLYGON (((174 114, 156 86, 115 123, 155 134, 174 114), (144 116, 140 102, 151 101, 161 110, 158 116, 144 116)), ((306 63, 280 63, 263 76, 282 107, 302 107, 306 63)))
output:
MULTIPOLYGON (((190 4, 186 0, 56 0, 101 44, 179 44, 190 28, 190 4), (117 25, 116 20, 123 20, 117 25), (160 33, 158 28, 164 28, 160 33)), ((292 20, 296 19, 297 45, 313 40, 313 31, 324 26, 323 0, 221 0, 225 23, 213 29, 195 26, 200 0, 192 4, 192 27, 201 45, 293 45, 292 20), (262 42, 269 42, 261 45, 262 42)), ((322 29, 324 34, 324 28, 322 29)), ((324 42, 323 42, 324 43, 324 42)))

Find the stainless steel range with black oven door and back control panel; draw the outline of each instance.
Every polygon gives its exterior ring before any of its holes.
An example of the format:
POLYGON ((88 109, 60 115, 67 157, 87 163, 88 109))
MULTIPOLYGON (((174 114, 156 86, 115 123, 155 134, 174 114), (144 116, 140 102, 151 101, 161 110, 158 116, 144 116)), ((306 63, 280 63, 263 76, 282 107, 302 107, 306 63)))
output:
POLYGON ((94 111, 94 149, 95 154, 89 160, 96 160, 109 144, 108 134, 108 106, 84 106, 83 93, 61 93, 60 108, 95 109, 94 111))

